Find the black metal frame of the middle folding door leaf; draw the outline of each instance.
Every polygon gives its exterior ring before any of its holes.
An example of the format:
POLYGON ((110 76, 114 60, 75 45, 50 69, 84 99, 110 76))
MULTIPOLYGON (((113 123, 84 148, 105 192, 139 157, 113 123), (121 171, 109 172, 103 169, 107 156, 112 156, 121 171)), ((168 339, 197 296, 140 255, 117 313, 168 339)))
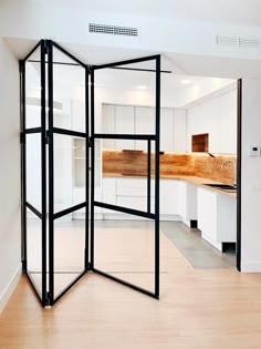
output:
MULTIPOLYGON (((51 40, 46 40, 46 54, 48 54, 48 73, 49 73, 49 130, 48 130, 48 144, 49 144, 49 304, 54 305, 74 284, 76 284, 88 271, 88 68, 77 58, 61 48, 59 44, 51 40), (85 132, 77 132, 55 127, 53 125, 53 64, 59 62, 53 61, 53 48, 65 54, 72 60, 74 65, 81 65, 85 70, 85 132), (85 140, 85 202, 54 213, 54 158, 53 158, 53 141, 54 135, 69 135, 81 137, 85 140), (85 247, 84 247, 84 269, 82 273, 63 289, 56 297, 54 297, 54 220, 67 214, 71 214, 80 208, 85 207, 85 247)), ((65 63, 67 64, 67 63, 65 63)), ((70 64, 70 63, 69 63, 70 64)))

